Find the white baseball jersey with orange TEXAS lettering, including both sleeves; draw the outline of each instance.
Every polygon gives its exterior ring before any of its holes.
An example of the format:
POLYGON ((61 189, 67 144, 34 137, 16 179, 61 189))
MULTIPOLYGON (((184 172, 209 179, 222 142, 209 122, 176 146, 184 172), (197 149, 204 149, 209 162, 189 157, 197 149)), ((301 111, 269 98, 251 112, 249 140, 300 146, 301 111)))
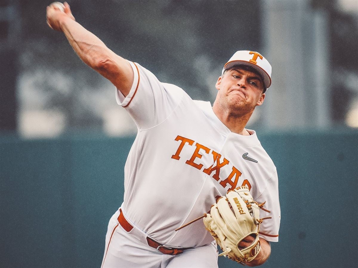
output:
POLYGON ((231 132, 211 104, 193 101, 183 89, 161 83, 130 62, 134 82, 117 103, 138 127, 125 165, 126 217, 155 240, 173 247, 198 247, 213 241, 202 220, 174 229, 204 213, 229 189, 247 185, 264 220, 260 236, 278 241, 280 205, 276 167, 256 133, 231 132), (244 157, 246 159, 244 159, 244 157))

